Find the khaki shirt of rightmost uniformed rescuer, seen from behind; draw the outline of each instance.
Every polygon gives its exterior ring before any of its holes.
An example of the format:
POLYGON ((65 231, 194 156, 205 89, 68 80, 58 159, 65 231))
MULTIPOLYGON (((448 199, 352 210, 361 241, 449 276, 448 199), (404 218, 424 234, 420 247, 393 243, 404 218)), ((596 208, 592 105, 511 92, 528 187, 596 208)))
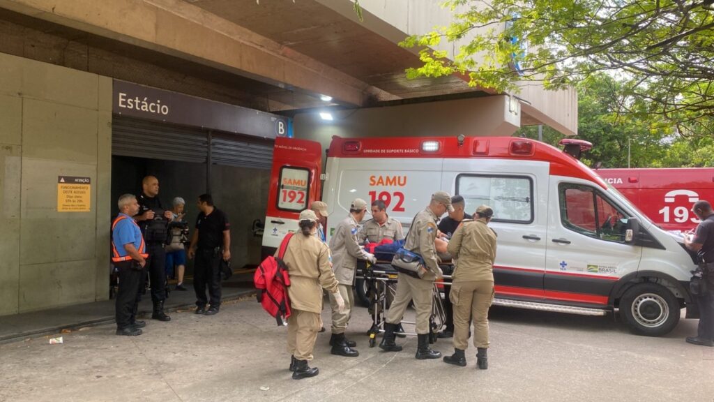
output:
POLYGON ((458 258, 453 283, 493 280, 496 232, 486 225, 486 219, 463 220, 448 243, 448 252, 458 258))

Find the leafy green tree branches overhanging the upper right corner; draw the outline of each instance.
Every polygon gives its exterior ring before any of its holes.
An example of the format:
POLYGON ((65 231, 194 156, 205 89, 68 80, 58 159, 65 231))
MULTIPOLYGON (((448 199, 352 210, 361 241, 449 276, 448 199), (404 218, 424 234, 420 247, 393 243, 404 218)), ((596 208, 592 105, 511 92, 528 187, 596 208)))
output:
POLYGON ((453 24, 403 46, 470 38, 453 60, 421 51, 410 77, 468 72, 471 84, 559 89, 611 72, 620 112, 666 119, 683 134, 714 134, 714 0, 448 0, 453 24), (456 12, 456 11, 459 12, 456 12))

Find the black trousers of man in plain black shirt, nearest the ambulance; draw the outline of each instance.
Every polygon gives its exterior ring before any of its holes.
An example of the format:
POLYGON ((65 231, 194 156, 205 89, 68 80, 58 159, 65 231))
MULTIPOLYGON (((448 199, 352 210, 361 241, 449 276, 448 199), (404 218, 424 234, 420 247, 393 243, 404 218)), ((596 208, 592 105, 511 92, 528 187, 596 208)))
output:
POLYGON ((206 307, 210 301, 211 307, 221 305, 221 268, 223 258, 221 249, 196 250, 196 263, 193 265, 193 290, 196 290, 196 305, 206 307), (206 298, 206 286, 211 300, 206 298))

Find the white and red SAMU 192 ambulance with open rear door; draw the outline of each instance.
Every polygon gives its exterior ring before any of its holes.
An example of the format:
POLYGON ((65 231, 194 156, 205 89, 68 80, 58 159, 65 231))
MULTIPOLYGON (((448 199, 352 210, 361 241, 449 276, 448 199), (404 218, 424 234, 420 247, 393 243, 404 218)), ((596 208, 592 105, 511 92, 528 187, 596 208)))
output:
MULTIPOLYGON (((574 157, 517 137, 276 139, 263 252, 298 229, 313 200, 328 205, 327 235, 356 197, 383 200, 405 230, 431 195, 462 195, 466 211, 493 207, 495 305, 583 315, 618 310, 642 335, 669 333, 695 263, 665 232, 574 157), (321 188, 323 187, 323 188, 321 188)), ((367 217, 368 218, 368 217, 367 217)), ((367 219, 366 218, 366 219, 367 219)))

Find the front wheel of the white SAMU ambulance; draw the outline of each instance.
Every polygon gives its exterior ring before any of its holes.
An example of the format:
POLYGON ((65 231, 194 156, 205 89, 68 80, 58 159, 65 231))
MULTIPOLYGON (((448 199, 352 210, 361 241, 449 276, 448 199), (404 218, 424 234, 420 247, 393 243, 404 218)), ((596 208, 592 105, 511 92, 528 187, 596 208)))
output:
POLYGON ((656 283, 639 283, 620 299, 620 314, 633 332, 661 336, 677 326, 680 305, 675 295, 656 283))

